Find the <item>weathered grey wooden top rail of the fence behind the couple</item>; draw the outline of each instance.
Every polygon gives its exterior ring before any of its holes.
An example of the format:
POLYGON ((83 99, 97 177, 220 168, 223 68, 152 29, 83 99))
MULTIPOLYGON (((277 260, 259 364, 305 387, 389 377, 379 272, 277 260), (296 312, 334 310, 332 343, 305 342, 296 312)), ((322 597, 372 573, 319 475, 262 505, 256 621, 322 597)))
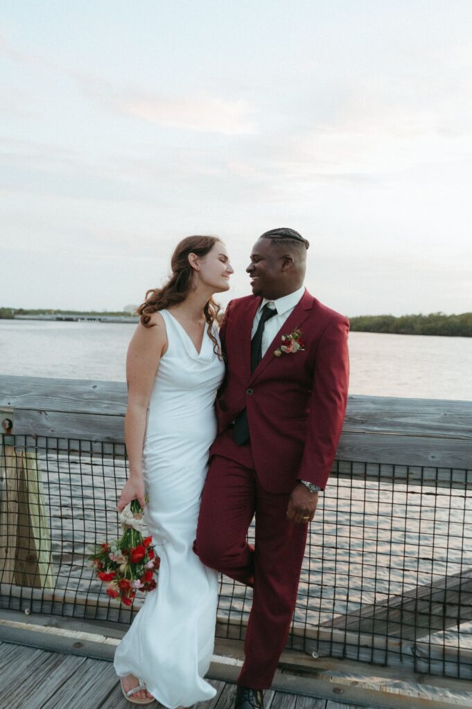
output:
MULTIPOLYGON (((120 382, 0 376, 1 406, 17 434, 123 442, 120 382)), ((349 397, 337 459, 465 469, 471 454, 472 402, 349 397)))

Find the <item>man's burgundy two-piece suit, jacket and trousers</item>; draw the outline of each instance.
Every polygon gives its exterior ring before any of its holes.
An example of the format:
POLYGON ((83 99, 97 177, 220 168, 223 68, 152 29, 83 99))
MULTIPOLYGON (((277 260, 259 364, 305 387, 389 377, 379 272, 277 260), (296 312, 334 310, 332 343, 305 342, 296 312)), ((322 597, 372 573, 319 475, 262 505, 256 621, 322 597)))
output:
POLYGON ((195 550, 204 564, 254 587, 246 661, 238 678, 272 683, 297 597, 307 525, 286 518, 297 480, 326 485, 346 410, 348 320, 307 291, 251 374, 251 328, 260 298, 229 303, 221 325, 226 384, 216 402, 219 435, 202 496, 195 550), (275 356, 298 328, 304 350, 275 356), (251 442, 231 425, 246 408, 251 442), (256 513, 256 547, 246 532, 256 513))

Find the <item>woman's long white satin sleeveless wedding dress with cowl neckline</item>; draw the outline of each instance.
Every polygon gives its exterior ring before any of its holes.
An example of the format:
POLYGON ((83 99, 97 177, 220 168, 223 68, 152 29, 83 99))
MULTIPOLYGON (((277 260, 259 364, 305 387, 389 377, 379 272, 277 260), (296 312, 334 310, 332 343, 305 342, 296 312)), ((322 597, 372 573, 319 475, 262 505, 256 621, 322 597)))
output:
POLYGON ((121 677, 140 678, 160 703, 175 709, 216 693, 203 678, 214 648, 217 574, 203 566, 192 544, 224 363, 206 329, 198 353, 174 316, 160 312, 168 350, 155 376, 143 448, 145 519, 160 556, 158 587, 146 594, 116 648, 114 667, 121 677))

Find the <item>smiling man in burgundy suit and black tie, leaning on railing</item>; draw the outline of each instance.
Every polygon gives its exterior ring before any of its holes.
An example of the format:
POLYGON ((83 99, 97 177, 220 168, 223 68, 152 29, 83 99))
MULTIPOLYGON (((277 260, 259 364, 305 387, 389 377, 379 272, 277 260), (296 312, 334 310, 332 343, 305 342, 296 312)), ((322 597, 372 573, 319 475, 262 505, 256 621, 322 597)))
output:
POLYGON ((221 325, 227 379, 195 551, 253 586, 237 709, 262 708, 272 683, 346 409, 348 320, 304 289, 308 247, 292 229, 264 233, 246 269, 253 295, 231 301, 221 325))

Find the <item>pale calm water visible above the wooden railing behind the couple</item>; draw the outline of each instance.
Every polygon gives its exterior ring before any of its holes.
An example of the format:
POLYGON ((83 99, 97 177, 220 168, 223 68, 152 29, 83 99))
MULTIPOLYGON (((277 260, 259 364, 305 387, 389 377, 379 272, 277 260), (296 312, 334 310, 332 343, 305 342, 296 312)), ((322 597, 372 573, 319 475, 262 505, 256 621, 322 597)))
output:
MULTIPOLYGON (((125 381, 136 325, 0 320, 0 374, 125 381)), ((472 401, 472 337, 351 333, 350 393, 472 401)))

